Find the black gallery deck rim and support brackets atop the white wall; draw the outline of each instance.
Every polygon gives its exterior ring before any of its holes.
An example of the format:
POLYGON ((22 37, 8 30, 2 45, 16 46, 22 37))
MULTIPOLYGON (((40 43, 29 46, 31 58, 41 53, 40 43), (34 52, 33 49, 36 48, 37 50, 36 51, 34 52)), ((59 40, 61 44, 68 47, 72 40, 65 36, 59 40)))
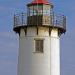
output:
POLYGON ((46 26, 46 25, 40 25, 40 26, 34 26, 34 25, 30 25, 30 26, 19 26, 19 27, 15 27, 15 28, 13 28, 13 30, 16 32, 16 33, 20 33, 20 29, 21 28, 25 28, 25 34, 27 34, 27 28, 28 27, 36 27, 36 29, 37 29, 37 35, 38 35, 38 28, 39 27, 46 27, 46 28, 49 28, 49 35, 51 34, 51 30, 53 29, 53 28, 56 28, 56 29, 58 29, 58 34, 62 34, 62 33, 65 33, 66 32, 66 29, 64 29, 64 28, 61 28, 61 27, 56 27, 56 26, 46 26))

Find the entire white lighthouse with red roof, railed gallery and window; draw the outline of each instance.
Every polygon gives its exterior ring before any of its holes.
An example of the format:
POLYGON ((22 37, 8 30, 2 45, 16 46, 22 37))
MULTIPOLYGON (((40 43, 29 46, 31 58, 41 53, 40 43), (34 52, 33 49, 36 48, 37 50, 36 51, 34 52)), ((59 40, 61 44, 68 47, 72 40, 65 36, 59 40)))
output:
POLYGON ((14 15, 19 34, 18 75, 60 75, 60 36, 66 17, 53 12, 47 0, 33 0, 27 13, 14 15))

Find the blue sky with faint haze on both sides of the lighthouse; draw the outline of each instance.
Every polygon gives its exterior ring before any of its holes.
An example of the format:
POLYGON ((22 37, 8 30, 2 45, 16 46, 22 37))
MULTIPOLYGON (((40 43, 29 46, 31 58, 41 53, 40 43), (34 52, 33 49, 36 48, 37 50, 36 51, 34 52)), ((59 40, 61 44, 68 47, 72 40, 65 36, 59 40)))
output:
MULTIPOLYGON (((17 75, 19 40, 13 32, 14 13, 26 12, 32 0, 0 0, 0 75, 17 75)), ((51 0, 54 11, 67 16, 61 36, 61 75, 75 75, 75 0, 51 0)))

